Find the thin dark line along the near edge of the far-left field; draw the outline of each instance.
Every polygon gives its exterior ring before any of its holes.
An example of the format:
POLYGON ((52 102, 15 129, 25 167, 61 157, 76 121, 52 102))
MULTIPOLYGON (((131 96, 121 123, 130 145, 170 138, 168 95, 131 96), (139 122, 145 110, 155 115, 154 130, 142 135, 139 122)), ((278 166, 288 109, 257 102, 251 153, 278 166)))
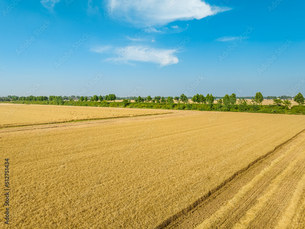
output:
POLYGON ((130 117, 140 117, 140 116, 150 116, 150 115, 162 115, 162 114, 172 114, 168 113, 152 113, 152 114, 140 114, 140 115, 125 115, 125 116, 115 116, 115 117, 106 117, 106 118, 87 118, 87 119, 71 119, 67 121, 54 121, 47 123, 35 123, 35 124, 20 124, 20 125, 3 125, 0 126, 0 129, 11 128, 11 127, 25 127, 25 126, 38 126, 38 125, 47 125, 47 124, 59 124, 59 123, 70 123, 70 122, 82 122, 82 121, 92 121, 92 120, 104 120, 104 119, 116 119, 116 118, 130 118, 130 117))

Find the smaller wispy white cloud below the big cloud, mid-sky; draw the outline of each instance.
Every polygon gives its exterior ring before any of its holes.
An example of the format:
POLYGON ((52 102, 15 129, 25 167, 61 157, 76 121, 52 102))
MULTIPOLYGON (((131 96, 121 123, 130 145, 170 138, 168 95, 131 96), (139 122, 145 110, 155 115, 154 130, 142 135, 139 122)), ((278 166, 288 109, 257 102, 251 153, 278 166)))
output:
POLYGON ((175 49, 155 49, 144 46, 130 46, 116 48, 114 53, 117 57, 106 59, 117 63, 129 63, 128 61, 152 62, 163 66, 177 64, 178 57, 175 49))

